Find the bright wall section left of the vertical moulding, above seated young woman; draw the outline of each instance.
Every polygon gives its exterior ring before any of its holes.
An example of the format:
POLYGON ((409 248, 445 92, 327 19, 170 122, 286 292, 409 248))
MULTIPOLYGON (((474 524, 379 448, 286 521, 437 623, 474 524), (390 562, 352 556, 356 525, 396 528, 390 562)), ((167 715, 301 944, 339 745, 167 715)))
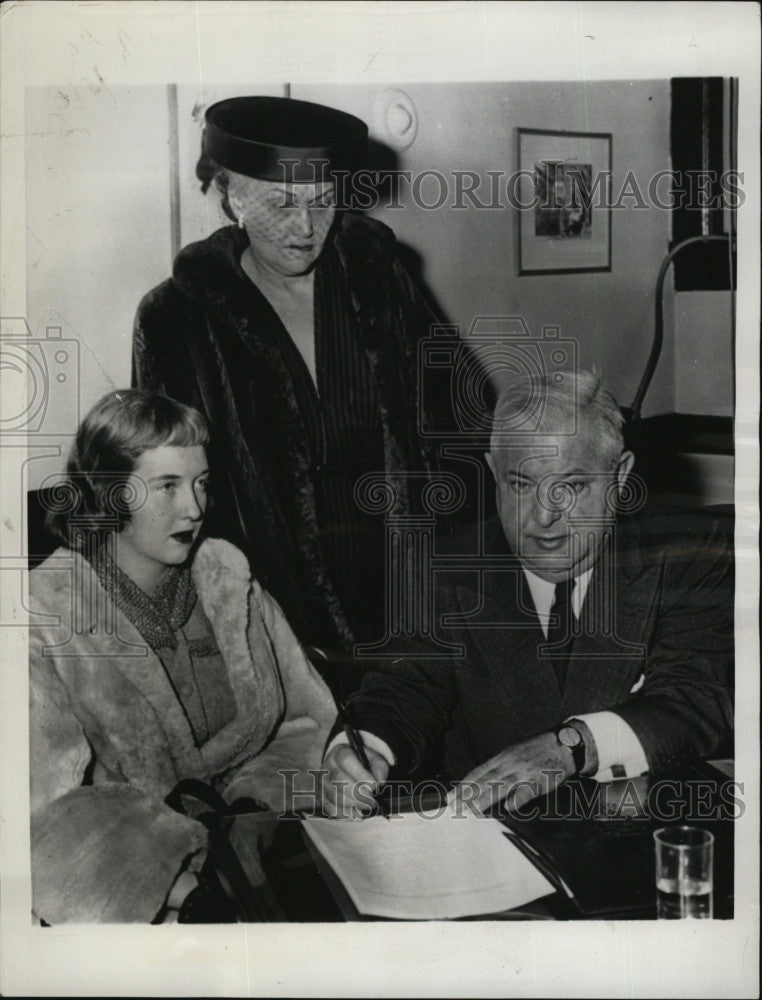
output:
POLYGON ((169 274, 167 88, 30 88, 25 111, 27 319, 79 349, 63 385, 50 367, 35 441, 50 431, 62 455, 30 465, 34 488, 61 467, 77 414, 129 385, 135 308, 169 274))

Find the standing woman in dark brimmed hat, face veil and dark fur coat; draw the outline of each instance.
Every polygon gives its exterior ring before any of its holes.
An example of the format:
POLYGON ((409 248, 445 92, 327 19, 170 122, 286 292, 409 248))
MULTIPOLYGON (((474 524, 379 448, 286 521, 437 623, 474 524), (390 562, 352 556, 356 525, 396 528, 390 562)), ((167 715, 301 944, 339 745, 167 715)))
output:
POLYGON ((178 254, 134 332, 137 384, 209 421, 215 532, 304 642, 344 650, 384 633, 383 518, 355 483, 385 474, 406 513, 406 473, 438 468, 418 432, 431 417, 418 342, 435 317, 392 231, 336 206, 334 174, 356 171, 366 145, 362 121, 322 105, 210 107, 202 164, 235 225, 178 254))

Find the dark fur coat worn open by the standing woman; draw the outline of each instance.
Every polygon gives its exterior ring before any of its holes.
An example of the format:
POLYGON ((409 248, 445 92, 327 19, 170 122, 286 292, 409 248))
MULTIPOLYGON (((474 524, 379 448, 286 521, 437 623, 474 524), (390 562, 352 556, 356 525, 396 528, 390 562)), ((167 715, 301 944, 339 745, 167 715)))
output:
MULTIPOLYGON (((390 229, 345 214, 334 233, 378 390, 387 477, 397 510, 405 512, 415 503, 405 473, 438 469, 436 446, 418 433, 418 344, 435 317, 397 260, 390 229)), ((247 243, 244 231, 229 226, 178 254, 172 278, 139 306, 133 381, 205 414, 215 477, 210 532, 246 552, 303 641, 349 648, 351 628, 320 548, 298 393, 277 344, 257 322, 256 290, 240 268, 247 243), (287 456, 285 483, 273 482, 273 449, 287 456), (288 498, 289 510, 279 496, 288 498), (317 629, 308 624, 316 604, 323 616, 317 629)), ((439 417, 426 412, 424 419, 439 417)))

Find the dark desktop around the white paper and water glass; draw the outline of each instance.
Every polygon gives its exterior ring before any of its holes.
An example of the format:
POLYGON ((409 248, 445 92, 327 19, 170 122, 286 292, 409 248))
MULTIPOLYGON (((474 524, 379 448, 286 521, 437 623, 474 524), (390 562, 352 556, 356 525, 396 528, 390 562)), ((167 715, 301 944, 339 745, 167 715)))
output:
MULTIPOLYGON (((629 790, 625 782, 610 786, 583 782, 587 817, 580 815, 579 800, 576 812, 570 809, 570 799, 573 805, 577 794, 571 787, 559 790, 554 799, 536 800, 540 815, 504 818, 504 822, 518 834, 518 846, 546 875, 562 875, 573 898, 559 885, 552 895, 520 910, 471 919, 655 919, 653 832, 660 826, 683 822, 714 833, 714 915, 716 919, 732 918, 734 809, 729 781, 702 764, 668 779, 631 783, 629 790), (620 803, 613 811, 608 797, 612 787, 620 803), (635 815, 639 804, 645 809, 635 815)), ((289 920, 379 919, 357 911, 330 866, 304 838, 298 821, 281 823, 267 868, 289 920)))

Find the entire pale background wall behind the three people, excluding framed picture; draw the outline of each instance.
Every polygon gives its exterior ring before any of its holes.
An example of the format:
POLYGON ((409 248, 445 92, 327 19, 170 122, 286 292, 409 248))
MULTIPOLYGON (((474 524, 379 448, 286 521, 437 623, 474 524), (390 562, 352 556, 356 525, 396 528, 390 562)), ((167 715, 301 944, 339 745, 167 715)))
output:
MULTIPOLYGON (((446 176, 454 170, 510 173, 516 168, 514 130, 519 127, 611 132, 615 192, 628 171, 647 187, 655 171, 669 166, 666 80, 402 87, 415 103, 418 133, 393 163, 413 174, 428 169, 446 176)), ((180 86, 176 122, 169 115, 166 87, 27 91, 27 315, 35 336, 57 324, 64 337, 80 342, 82 412, 108 388, 128 383, 135 308, 171 270, 171 127, 177 129, 179 240, 185 244, 226 221, 216 197, 201 195, 194 175, 199 109, 260 89, 251 82, 203 90, 180 86)), ((302 85, 291 93, 359 115, 378 138, 374 106, 384 89, 302 85)), ((271 86, 267 92, 282 91, 271 86)), ((466 331, 478 315, 522 316, 536 336, 543 325, 559 325, 563 337, 578 342, 582 364, 595 363, 620 401, 631 400, 650 348, 653 286, 667 249, 667 212, 629 207, 612 213, 610 273, 518 277, 516 215, 510 207, 426 210, 413 203, 404 185, 400 202, 401 209, 378 208, 371 214, 389 223, 418 255, 420 276, 448 320, 466 331)), ((678 402, 673 298, 668 287, 665 347, 646 414, 670 412, 678 402)), ((706 311, 700 313, 704 318, 706 311)), ((696 322, 692 329, 693 335, 681 333, 680 366, 686 352, 698 350, 696 322)), ((732 377, 727 331, 719 336, 713 327, 699 340, 701 350, 713 345, 715 395, 727 412, 732 377)), ((679 374, 681 400, 690 395, 685 378, 679 374)), ((68 401, 51 405, 58 430, 73 432, 76 419, 68 401)), ((31 485, 49 471, 44 463, 36 465, 31 485)))

